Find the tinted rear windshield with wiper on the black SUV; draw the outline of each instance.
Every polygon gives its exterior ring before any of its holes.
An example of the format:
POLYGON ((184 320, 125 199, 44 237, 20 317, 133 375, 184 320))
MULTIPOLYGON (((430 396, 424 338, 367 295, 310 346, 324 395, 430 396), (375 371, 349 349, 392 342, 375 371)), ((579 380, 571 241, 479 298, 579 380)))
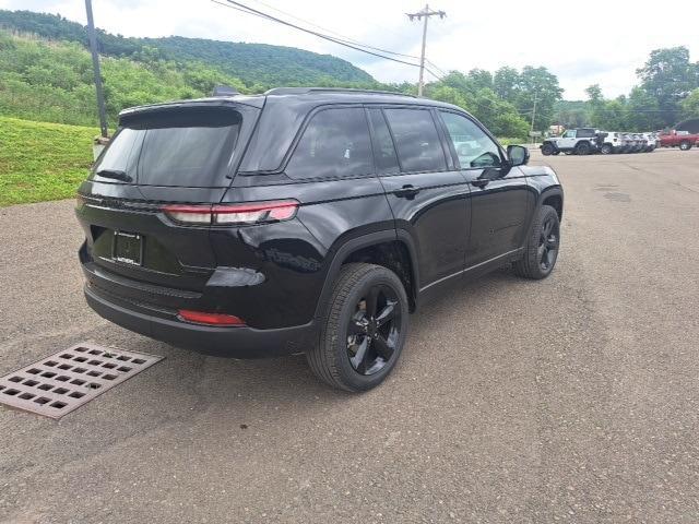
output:
POLYGON ((227 186, 242 122, 228 108, 178 108, 121 122, 92 178, 142 186, 227 186))

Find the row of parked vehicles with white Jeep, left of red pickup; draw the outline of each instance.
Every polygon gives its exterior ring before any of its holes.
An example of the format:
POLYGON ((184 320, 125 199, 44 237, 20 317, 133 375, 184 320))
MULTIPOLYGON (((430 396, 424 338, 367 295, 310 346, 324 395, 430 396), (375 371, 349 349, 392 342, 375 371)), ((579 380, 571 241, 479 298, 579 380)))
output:
POLYGON ((594 128, 569 129, 560 136, 544 140, 541 145, 544 155, 589 155, 602 153, 648 153, 660 147, 657 133, 624 133, 600 131, 594 128))

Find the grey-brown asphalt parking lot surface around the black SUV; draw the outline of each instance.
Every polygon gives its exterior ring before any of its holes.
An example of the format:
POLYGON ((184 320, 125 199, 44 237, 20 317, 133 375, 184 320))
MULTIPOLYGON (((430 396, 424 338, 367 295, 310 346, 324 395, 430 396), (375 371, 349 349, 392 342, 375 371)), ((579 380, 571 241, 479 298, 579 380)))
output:
POLYGON ((566 190, 554 274, 453 290, 359 396, 103 321, 72 202, 0 210, 0 374, 166 357, 60 421, 0 407, 0 522, 699 521, 699 151, 533 163, 566 190))

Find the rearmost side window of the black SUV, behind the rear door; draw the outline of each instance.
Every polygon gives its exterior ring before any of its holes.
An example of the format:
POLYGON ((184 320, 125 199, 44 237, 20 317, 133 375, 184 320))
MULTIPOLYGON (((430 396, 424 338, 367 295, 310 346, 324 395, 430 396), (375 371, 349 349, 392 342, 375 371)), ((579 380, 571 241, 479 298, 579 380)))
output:
POLYGON ((354 178, 372 171, 369 127, 362 107, 317 112, 285 169, 294 179, 354 178))

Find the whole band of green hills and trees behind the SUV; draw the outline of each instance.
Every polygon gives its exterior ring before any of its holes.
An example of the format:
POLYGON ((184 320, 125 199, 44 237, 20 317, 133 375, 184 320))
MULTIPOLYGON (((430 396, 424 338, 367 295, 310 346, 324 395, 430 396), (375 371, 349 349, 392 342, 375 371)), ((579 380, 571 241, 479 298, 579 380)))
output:
MULTIPOLYGON (((0 114, 94 126, 97 121, 85 27, 59 15, 0 10, 0 114)), ((270 87, 378 88, 415 94, 412 83, 383 84, 344 60, 300 49, 199 38, 127 38, 98 32, 107 112, 134 105, 209 96, 216 84, 241 93, 270 87)), ((648 131, 699 116, 699 64, 685 47, 652 51, 628 96, 562 100, 544 67, 451 71, 426 96, 463 107, 494 134, 523 140, 550 124, 648 131), (532 121, 533 118, 533 121, 532 121)))

